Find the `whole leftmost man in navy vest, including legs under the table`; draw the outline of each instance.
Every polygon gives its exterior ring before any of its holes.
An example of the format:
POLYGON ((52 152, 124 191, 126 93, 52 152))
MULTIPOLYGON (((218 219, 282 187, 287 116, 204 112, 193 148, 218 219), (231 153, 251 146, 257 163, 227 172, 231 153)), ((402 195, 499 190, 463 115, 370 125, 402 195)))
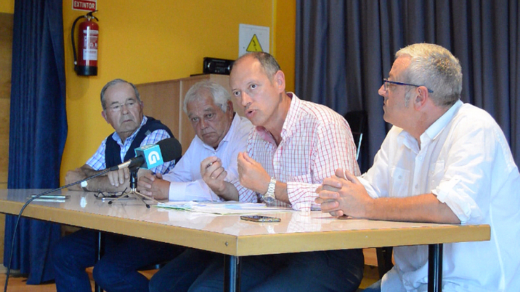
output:
MULTIPOLYGON (((97 152, 84 166, 67 172, 67 184, 131 159, 137 147, 173 137, 167 126, 143 115, 143 102, 134 84, 122 79, 108 82, 101 90, 101 105, 101 115, 115 132, 101 142, 97 152)), ((178 144, 178 147, 181 145, 178 144)), ((167 173, 176 160, 150 170, 140 168, 138 177, 146 173, 167 173)), ((70 190, 124 192, 129 189, 129 178, 129 169, 123 168, 70 190)), ((105 253, 96 263, 98 232, 82 229, 61 239, 52 251, 57 291, 91 292, 85 268, 92 266, 94 280, 105 291, 148 291, 148 279, 138 269, 171 260, 183 251, 183 248, 169 244, 117 234, 105 234, 103 247, 105 253)))

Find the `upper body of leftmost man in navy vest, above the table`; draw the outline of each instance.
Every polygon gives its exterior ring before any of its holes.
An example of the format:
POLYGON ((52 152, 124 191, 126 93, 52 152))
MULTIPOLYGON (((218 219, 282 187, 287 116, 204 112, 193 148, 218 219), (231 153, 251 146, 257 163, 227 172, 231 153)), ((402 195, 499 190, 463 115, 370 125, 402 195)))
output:
MULTIPOLYGON (((122 79, 114 79, 101 90, 101 115, 115 132, 98 147, 93 156, 80 168, 68 171, 65 183, 74 183, 112 166, 135 157, 136 147, 155 144, 174 135, 167 126, 143 114, 143 102, 136 86, 122 79)), ((180 147, 180 144, 179 144, 180 147)), ((167 161, 152 168, 138 170, 138 177, 145 173, 167 173, 176 161, 167 161)), ((129 187, 129 169, 110 171, 88 182, 70 187, 70 190, 85 192, 122 192, 129 187)))

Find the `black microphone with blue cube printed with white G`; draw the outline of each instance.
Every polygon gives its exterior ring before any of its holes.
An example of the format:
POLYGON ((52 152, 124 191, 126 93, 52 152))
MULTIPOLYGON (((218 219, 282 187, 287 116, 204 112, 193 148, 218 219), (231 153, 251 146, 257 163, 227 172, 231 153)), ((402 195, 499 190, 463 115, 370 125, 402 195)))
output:
POLYGON ((110 171, 117 171, 119 169, 128 167, 140 168, 154 168, 164 164, 164 162, 176 159, 182 156, 181 143, 176 138, 167 138, 160 140, 157 144, 149 144, 143 147, 138 147, 134 150, 136 157, 129 159, 122 164, 112 166, 110 171))

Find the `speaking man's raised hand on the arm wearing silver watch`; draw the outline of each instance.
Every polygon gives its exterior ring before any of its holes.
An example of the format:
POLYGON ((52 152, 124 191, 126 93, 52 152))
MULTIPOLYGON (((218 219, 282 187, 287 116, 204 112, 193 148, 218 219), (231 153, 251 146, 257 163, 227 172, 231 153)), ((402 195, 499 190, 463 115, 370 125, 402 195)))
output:
POLYGON ((271 176, 261 164, 254 161, 246 152, 238 154, 237 163, 240 185, 259 194, 265 194, 271 181, 271 176))

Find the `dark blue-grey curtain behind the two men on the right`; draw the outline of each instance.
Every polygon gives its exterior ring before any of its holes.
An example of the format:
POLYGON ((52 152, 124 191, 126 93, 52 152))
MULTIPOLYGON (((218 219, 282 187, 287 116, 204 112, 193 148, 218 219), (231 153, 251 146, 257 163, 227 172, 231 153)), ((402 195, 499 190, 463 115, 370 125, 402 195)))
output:
POLYGON ((409 44, 448 48, 462 65, 462 101, 489 112, 520 163, 518 0, 297 0, 296 93, 345 114, 368 112, 366 171, 389 125, 377 89, 409 44))

